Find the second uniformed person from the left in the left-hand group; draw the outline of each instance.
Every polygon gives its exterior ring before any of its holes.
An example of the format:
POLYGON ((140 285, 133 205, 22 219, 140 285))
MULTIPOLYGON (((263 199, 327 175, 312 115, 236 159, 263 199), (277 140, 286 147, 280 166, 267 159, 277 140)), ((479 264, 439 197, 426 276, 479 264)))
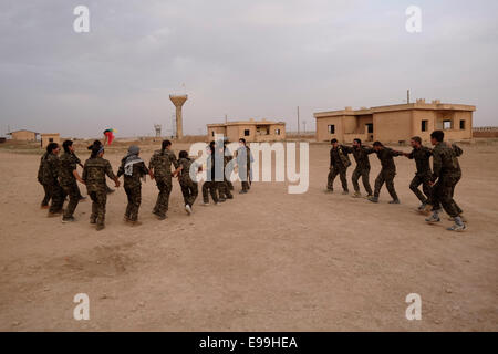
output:
POLYGON ((74 221, 73 214, 81 198, 81 192, 76 180, 80 183, 83 183, 83 180, 76 170, 79 158, 74 155, 73 142, 65 140, 62 144, 62 147, 64 148, 64 153, 59 158, 59 181, 65 195, 69 196, 69 202, 65 207, 62 222, 71 222, 74 221))

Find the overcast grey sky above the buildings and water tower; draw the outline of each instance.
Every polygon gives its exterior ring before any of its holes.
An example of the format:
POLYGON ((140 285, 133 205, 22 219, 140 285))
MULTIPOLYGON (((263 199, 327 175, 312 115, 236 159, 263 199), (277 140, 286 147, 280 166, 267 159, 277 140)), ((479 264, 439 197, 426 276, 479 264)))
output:
MULTIPOLYGON (((184 134, 266 118, 440 100, 498 126, 496 0, 0 0, 0 136, 184 134), (73 10, 90 10, 76 33, 73 10), (406 28, 409 6, 422 31, 406 28)), ((305 123, 303 123, 305 122, 305 123)))

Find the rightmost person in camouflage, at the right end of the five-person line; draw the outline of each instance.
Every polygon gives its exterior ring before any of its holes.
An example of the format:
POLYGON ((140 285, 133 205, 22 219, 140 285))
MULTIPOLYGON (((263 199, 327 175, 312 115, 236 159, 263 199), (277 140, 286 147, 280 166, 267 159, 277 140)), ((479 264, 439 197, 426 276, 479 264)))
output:
POLYGON ((461 178, 461 168, 458 156, 463 154, 456 145, 444 142, 445 134, 435 131, 430 134, 433 149, 433 215, 426 219, 427 222, 439 222, 440 206, 453 218, 455 223, 448 228, 449 231, 464 231, 467 227, 460 217, 461 209, 453 199, 455 186, 461 178))

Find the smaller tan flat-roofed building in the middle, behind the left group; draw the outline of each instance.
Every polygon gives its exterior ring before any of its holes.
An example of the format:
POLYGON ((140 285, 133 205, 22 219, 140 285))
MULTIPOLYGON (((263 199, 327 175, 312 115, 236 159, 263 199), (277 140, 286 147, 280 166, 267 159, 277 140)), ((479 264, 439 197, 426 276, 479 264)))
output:
POLYGON ((247 142, 277 142, 286 139, 286 123, 270 121, 240 121, 221 124, 208 124, 208 139, 212 140, 215 134, 222 134, 230 142, 245 138, 247 142))

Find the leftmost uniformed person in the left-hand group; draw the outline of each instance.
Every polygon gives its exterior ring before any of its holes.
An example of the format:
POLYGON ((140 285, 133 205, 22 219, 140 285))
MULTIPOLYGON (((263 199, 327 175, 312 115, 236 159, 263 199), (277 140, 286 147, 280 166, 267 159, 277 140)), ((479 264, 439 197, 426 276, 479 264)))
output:
POLYGON ((46 146, 46 157, 43 159, 42 180, 43 185, 49 189, 49 195, 52 198, 52 204, 49 208, 49 217, 56 217, 62 214, 62 206, 64 205, 65 194, 59 184, 59 144, 50 143, 46 146))

